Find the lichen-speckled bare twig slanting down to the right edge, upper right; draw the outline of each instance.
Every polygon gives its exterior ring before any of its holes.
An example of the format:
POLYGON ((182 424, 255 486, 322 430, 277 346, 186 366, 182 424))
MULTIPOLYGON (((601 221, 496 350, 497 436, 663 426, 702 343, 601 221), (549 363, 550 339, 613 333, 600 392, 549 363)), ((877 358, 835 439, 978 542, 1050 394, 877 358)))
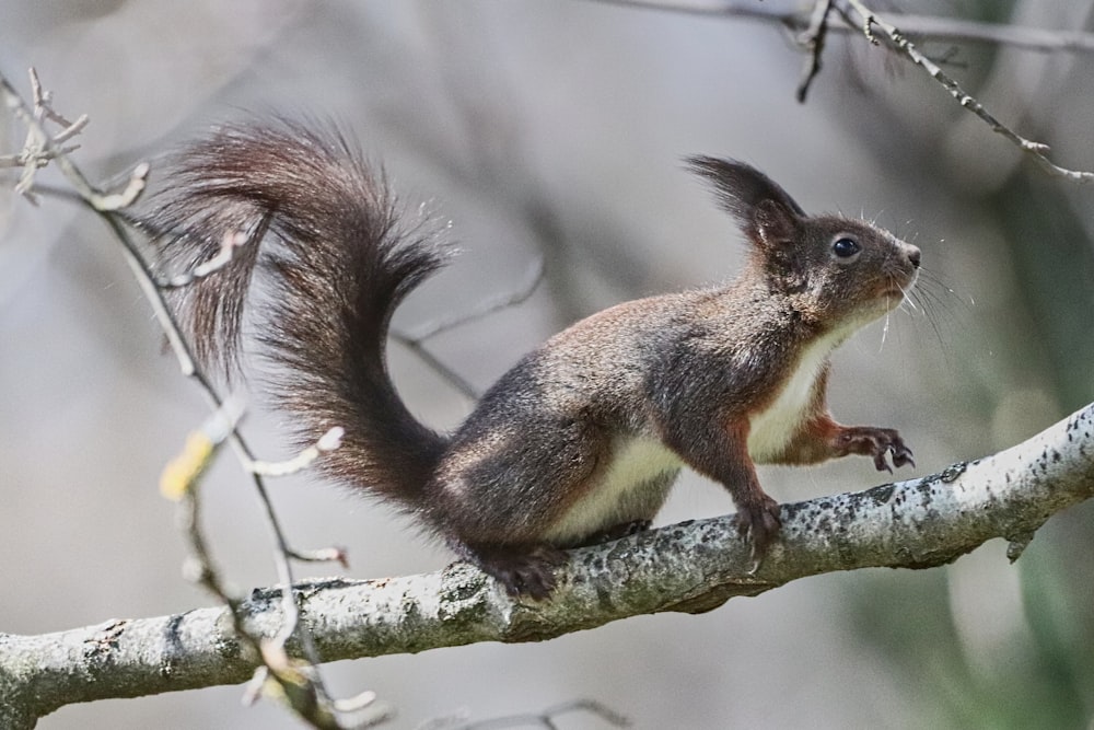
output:
POLYGON ((861 31, 871 43, 875 45, 878 43, 877 37, 873 32, 876 27, 885 35, 898 53, 903 54, 906 58, 908 58, 908 60, 923 69, 928 76, 942 84, 942 86, 950 92, 950 95, 953 96, 962 107, 968 109, 970 113, 982 119, 992 131, 1002 135, 1004 138, 1013 142, 1020 150, 1031 155, 1037 161, 1038 164, 1040 164, 1041 167, 1048 171, 1049 174, 1063 177, 1073 183, 1085 184, 1094 182, 1094 173, 1068 170, 1067 167, 1057 165, 1049 160, 1046 154, 1049 151, 1049 147, 1047 144, 1035 142, 1022 137, 992 116, 980 102, 974 99, 961 86, 961 84, 946 74, 945 71, 938 66, 938 63, 920 53, 919 49, 916 48, 915 44, 908 39, 908 36, 895 25, 878 18, 877 14, 866 8, 866 5, 860 0, 847 0, 847 3, 861 19, 861 31))

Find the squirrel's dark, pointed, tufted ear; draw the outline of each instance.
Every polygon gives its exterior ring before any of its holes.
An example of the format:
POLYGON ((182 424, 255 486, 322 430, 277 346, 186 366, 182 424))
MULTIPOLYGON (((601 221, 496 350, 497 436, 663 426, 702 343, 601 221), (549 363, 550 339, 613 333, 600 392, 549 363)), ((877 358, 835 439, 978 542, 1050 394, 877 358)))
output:
POLYGON ((713 183, 719 202, 753 243, 772 246, 798 239, 805 211, 770 177, 736 160, 694 157, 686 162, 713 183))

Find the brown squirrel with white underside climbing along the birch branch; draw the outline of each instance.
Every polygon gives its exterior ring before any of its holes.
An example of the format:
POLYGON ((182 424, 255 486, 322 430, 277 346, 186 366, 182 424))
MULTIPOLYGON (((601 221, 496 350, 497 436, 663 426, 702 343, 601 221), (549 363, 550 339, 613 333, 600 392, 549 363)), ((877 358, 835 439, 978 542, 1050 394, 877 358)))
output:
POLYGON ((412 513, 510 594, 547 596, 562 548, 648 528, 682 465, 730 491, 758 560, 780 520, 755 463, 912 464, 897 431, 833 420, 826 386, 831 351, 904 300, 919 250, 860 220, 807 216, 759 171, 707 157, 688 165, 748 241, 741 275, 578 322, 502 375, 455 432, 435 432, 395 392, 384 352, 393 311, 449 250, 322 127, 243 123, 193 142, 140 224, 164 267, 187 270, 247 234, 221 270, 179 290, 199 358, 234 369, 252 275, 267 262, 260 340, 301 442, 344 427, 323 472, 412 513))

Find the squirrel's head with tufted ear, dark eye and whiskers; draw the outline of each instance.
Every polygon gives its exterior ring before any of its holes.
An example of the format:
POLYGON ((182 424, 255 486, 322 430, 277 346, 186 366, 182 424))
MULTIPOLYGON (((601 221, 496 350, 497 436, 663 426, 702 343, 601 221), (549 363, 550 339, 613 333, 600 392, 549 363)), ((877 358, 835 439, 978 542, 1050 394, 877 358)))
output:
POLYGON ((696 157, 689 167, 713 183, 748 239, 752 266, 816 322, 862 323, 904 301, 919 273, 919 248, 841 216, 807 216, 785 190, 743 162, 696 157))

